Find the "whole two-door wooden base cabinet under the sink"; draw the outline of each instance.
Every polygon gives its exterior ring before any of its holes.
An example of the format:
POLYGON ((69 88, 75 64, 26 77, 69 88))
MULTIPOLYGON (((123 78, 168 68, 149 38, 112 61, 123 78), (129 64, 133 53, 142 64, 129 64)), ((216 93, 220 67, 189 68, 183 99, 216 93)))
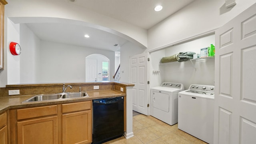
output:
POLYGON ((10 110, 10 144, 91 142, 92 101, 10 110))

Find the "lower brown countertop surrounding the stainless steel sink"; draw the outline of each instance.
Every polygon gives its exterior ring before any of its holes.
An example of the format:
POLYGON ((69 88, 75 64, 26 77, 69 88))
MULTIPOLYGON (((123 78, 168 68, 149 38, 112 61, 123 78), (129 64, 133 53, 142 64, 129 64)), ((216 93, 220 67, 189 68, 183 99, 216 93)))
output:
POLYGON ((64 103, 70 103, 70 102, 89 101, 89 100, 94 100, 99 98, 126 96, 125 93, 117 90, 94 90, 94 91, 87 91, 87 93, 89 97, 65 98, 60 100, 46 100, 46 101, 40 101, 40 102, 26 102, 26 103, 22 103, 22 102, 35 95, 0 97, 0 114, 12 108, 25 108, 25 107, 33 107, 33 106, 64 104, 64 103))

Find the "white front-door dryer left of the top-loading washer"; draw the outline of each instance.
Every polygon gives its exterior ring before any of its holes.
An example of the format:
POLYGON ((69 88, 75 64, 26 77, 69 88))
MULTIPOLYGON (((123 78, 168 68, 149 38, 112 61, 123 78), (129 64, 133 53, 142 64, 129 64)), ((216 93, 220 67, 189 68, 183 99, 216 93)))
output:
POLYGON ((150 89, 150 115, 174 125, 178 122, 178 92, 184 90, 183 84, 164 82, 150 89))

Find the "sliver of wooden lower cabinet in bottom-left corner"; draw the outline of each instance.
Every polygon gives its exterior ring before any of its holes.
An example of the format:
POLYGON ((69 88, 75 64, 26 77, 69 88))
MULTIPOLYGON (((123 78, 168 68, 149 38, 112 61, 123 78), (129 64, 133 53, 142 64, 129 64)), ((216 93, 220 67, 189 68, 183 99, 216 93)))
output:
POLYGON ((8 144, 6 112, 0 115, 0 144, 8 144))

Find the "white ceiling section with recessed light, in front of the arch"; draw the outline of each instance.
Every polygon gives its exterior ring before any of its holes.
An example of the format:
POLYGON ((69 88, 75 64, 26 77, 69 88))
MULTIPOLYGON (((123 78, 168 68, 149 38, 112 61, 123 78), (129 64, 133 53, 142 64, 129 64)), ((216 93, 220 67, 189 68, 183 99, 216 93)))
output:
POLYGON ((194 0, 62 0, 149 29, 194 0), (154 7, 162 5, 160 12, 154 7))

